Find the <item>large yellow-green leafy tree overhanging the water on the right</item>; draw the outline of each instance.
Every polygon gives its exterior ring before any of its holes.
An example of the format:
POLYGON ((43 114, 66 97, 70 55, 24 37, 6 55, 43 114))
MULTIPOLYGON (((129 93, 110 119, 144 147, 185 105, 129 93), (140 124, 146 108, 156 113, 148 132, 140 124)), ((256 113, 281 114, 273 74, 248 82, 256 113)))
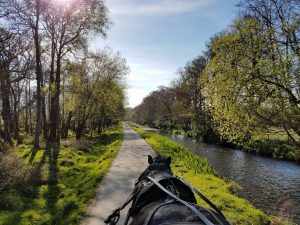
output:
POLYGON ((288 133, 299 126, 299 97, 294 94, 298 75, 292 63, 296 58, 285 51, 254 18, 238 20, 214 40, 206 92, 223 137, 243 142, 265 129, 288 133))

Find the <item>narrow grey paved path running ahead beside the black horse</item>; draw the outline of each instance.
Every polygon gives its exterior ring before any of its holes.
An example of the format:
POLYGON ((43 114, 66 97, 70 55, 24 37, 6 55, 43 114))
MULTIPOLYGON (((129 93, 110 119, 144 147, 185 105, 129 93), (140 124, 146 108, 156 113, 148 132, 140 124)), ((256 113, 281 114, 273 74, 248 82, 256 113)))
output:
MULTIPOLYGON (((153 155, 146 141, 124 125, 124 140, 117 157, 102 179, 82 225, 104 225, 104 220, 130 195, 135 180, 147 167, 147 155, 153 155)), ((128 207, 122 211, 118 224, 123 224, 128 207)))

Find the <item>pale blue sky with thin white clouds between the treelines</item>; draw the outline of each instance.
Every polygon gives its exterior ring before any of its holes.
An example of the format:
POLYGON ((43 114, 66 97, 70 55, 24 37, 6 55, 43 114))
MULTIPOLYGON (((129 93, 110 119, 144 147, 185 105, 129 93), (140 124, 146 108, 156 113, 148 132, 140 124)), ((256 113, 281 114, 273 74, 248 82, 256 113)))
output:
POLYGON ((201 55, 209 38, 230 25, 239 0, 106 0, 113 24, 92 48, 109 46, 125 57, 127 106, 139 105, 180 67, 201 55))

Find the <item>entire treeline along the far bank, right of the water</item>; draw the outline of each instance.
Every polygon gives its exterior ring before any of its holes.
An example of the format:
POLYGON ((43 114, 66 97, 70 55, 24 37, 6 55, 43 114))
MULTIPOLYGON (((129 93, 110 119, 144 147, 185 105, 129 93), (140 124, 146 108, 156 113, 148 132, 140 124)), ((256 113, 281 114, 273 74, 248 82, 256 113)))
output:
POLYGON ((242 0, 228 29, 129 112, 208 142, 245 144, 285 132, 300 146, 300 2, 242 0))

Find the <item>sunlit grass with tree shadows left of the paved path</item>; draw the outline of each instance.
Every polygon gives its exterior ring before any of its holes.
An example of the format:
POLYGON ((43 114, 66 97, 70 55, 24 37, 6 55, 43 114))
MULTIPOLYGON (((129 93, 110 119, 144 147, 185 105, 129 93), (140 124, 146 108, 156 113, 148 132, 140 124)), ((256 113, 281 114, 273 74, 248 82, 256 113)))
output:
POLYGON ((0 194, 0 224, 79 224, 122 135, 120 125, 99 137, 62 141, 57 159, 44 150, 32 159, 29 143, 18 146, 11 154, 22 159, 26 179, 0 194))

